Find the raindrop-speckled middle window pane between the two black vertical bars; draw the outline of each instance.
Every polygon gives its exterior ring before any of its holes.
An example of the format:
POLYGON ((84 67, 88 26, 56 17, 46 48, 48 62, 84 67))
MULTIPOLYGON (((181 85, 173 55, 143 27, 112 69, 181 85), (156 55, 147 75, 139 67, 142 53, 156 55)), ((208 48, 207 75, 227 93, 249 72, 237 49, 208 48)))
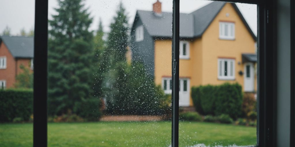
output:
POLYGON ((171 144, 172 2, 49 1, 48 146, 171 144))

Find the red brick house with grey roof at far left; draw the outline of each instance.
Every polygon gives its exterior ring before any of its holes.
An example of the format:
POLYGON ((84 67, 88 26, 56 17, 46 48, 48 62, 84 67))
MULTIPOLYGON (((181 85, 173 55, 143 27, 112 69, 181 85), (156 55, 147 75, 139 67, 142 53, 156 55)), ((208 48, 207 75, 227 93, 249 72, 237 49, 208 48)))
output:
POLYGON ((33 72, 34 38, 0 36, 0 88, 13 88, 20 65, 33 72))

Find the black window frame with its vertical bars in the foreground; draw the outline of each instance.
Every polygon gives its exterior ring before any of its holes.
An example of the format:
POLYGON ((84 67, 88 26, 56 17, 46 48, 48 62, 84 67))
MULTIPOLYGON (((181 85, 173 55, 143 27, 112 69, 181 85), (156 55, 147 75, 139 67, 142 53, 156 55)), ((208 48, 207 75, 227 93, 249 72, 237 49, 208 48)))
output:
MULTIPOLYGON (((221 1, 221 0, 216 0, 221 1)), ((276 146, 276 0, 226 0, 258 6, 258 124, 257 146, 276 146), (267 49, 267 50, 266 50, 267 49)), ((292 15, 293 16, 293 15, 292 15)), ((294 19, 293 19, 294 21, 294 19)), ((291 21, 292 22, 292 21, 291 21)), ((179 0, 173 0, 172 147, 178 147, 179 121, 179 0)), ((294 40, 294 29, 293 29, 294 40)), ((47 146, 48 0, 35 0, 33 146, 47 146)), ((293 41, 292 40, 292 41, 293 41)), ((291 41, 291 42, 292 42, 291 41)), ((291 46, 294 48, 294 43, 291 46)), ((294 51, 292 51, 294 54, 294 51)), ((293 55, 291 54, 291 56, 293 55)), ((294 56, 292 56, 294 57, 294 56)), ((295 61, 291 58, 291 61, 295 61)), ((294 64, 292 63, 294 66, 294 64)), ((292 67, 294 69, 294 67, 292 67)), ((291 70, 292 72, 293 70, 291 70)), ((294 71, 293 71, 294 72, 294 71)), ((294 76, 291 76, 294 77, 294 76)), ((294 79, 293 79, 294 80, 294 79)), ((292 83, 292 82, 291 82, 292 83)), ((294 81, 293 81, 294 85, 294 81)), ((294 89, 292 85, 291 88, 294 89)), ((292 91, 293 91, 292 89, 292 91)), ((293 92, 294 93, 294 92, 293 92)), ((293 94, 294 96, 294 94, 293 94)), ((295 104, 295 102, 293 101, 295 104)), ((294 109, 292 106, 291 108, 294 109)), ((295 113, 295 112, 294 112, 295 113)), ((293 113, 292 113, 293 114, 293 113)), ((292 117, 294 118, 294 117, 292 117)), ((292 121, 293 119, 291 119, 292 121)), ((291 125, 292 126, 292 125, 291 125)), ((294 125, 293 125, 294 126, 294 125)), ((293 128, 294 129, 294 128, 293 128)), ((291 131, 291 132, 295 132, 291 131)), ((294 133, 291 133, 290 135, 294 133)), ((290 139, 293 140, 293 139, 290 139)), ((291 143, 291 142, 290 142, 291 143)))

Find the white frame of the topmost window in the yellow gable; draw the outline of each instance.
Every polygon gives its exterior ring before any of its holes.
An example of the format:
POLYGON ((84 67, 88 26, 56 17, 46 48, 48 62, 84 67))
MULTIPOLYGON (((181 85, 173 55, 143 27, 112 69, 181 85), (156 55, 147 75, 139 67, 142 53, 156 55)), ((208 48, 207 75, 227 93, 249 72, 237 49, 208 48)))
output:
POLYGON ((235 40, 235 23, 233 22, 219 22, 219 39, 222 40, 235 40), (227 36, 225 36, 225 25, 227 25, 227 36), (230 36, 230 26, 232 26, 232 36, 230 36))

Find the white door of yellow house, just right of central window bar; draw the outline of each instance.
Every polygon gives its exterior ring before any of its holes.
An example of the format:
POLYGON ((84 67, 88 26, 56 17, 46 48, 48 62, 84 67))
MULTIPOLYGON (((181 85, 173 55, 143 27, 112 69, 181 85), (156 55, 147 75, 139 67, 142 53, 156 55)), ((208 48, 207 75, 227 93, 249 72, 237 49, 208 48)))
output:
POLYGON ((179 106, 189 106, 189 79, 179 78, 179 106))

